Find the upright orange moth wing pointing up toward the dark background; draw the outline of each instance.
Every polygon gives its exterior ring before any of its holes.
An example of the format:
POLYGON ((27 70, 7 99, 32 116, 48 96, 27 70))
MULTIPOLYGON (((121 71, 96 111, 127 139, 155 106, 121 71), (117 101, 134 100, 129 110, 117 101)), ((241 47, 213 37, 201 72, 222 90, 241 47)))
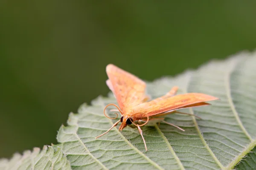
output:
POLYGON ((109 78, 106 83, 123 112, 144 102, 147 96, 145 95, 146 84, 143 80, 113 64, 107 65, 106 72, 109 78))

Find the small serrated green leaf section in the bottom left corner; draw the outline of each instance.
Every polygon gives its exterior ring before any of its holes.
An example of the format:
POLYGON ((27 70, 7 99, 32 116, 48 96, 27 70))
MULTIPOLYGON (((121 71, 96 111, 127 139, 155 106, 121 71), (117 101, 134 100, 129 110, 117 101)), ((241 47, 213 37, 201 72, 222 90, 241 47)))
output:
POLYGON ((44 146, 41 151, 35 147, 23 155, 15 153, 10 160, 0 159, 0 170, 71 170, 71 167, 60 148, 54 152, 53 147, 44 146))

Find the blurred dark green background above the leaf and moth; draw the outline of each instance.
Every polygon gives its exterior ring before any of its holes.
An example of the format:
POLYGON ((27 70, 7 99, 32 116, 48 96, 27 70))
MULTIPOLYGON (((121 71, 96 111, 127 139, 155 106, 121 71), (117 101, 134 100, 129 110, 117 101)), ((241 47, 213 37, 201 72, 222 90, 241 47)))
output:
POLYGON ((107 95, 108 63, 151 81, 253 50, 255 7, 255 0, 1 0, 0 157, 56 144, 70 111, 107 95))

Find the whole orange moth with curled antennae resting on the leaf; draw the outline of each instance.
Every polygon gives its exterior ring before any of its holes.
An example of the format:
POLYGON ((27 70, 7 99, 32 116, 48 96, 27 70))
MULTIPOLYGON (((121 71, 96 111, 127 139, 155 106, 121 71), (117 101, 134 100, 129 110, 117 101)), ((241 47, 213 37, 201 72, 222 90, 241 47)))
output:
MULTIPOLYGON (((143 137, 143 132, 140 128, 141 126, 146 125, 148 122, 163 122, 183 130, 174 124, 164 121, 162 116, 170 113, 182 113, 178 112, 178 109, 210 105, 207 103, 208 101, 218 99, 214 96, 201 93, 176 95, 178 88, 175 86, 166 95, 148 101, 150 97, 145 94, 146 84, 143 80, 113 64, 107 65, 106 72, 108 74, 106 83, 116 97, 119 107, 115 104, 108 104, 104 109, 104 115, 109 119, 116 119, 118 117, 117 113, 115 113, 115 118, 111 118, 105 113, 106 108, 113 105, 117 110, 112 109, 111 111, 119 111, 122 117, 114 123, 109 130, 97 136, 96 139, 108 133, 113 127, 121 122, 122 124, 119 127, 120 131, 127 125, 138 128, 147 151, 148 149, 143 137)), ((189 113, 182 114, 195 116, 194 114, 189 113)))

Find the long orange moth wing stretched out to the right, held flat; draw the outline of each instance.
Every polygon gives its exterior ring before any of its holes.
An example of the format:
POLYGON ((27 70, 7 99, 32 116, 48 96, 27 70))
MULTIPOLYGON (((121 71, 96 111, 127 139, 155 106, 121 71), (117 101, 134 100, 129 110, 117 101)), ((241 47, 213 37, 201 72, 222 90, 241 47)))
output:
POLYGON ((172 96, 162 100, 159 99, 154 99, 149 102, 137 105, 136 107, 134 107, 134 112, 144 112, 148 114, 148 116, 154 116, 160 113, 175 111, 181 108, 207 105, 205 102, 217 100, 218 98, 201 93, 187 93, 172 96))

